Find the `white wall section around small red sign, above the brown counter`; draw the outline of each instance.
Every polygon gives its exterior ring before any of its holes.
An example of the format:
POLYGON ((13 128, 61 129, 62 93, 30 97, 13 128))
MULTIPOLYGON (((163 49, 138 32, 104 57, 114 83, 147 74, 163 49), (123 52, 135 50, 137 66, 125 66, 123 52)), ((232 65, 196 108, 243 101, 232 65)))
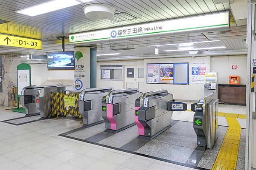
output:
POLYGON ((219 84, 228 84, 229 76, 239 76, 239 84, 246 85, 247 56, 211 57, 211 68, 218 72, 219 84), (237 70, 232 70, 232 64, 237 64, 237 70))

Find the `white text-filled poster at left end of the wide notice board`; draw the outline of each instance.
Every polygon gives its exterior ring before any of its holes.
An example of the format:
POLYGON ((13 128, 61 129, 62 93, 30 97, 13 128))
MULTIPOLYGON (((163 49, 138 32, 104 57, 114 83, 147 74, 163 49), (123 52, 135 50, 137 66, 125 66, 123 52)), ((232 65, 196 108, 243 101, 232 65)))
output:
POLYGON ((159 67, 160 67, 160 64, 148 64, 147 83, 159 83, 160 82, 159 67))

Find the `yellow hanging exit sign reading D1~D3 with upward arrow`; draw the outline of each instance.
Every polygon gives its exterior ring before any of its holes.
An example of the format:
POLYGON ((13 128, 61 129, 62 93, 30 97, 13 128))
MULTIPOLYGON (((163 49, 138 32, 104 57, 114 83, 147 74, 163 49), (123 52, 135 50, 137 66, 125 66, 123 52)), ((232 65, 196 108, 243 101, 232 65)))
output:
POLYGON ((42 49, 42 41, 34 40, 31 38, 21 38, 10 35, 0 34, 0 45, 20 47, 20 48, 32 48, 32 49, 42 49))

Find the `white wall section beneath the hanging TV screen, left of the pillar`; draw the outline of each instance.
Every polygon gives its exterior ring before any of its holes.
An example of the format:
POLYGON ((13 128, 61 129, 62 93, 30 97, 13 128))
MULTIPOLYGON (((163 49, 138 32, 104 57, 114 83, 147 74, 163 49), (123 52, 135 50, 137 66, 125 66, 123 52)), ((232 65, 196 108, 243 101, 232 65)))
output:
POLYGON ((47 79, 74 79, 74 71, 48 71, 47 64, 30 64, 31 84, 41 85, 47 79))

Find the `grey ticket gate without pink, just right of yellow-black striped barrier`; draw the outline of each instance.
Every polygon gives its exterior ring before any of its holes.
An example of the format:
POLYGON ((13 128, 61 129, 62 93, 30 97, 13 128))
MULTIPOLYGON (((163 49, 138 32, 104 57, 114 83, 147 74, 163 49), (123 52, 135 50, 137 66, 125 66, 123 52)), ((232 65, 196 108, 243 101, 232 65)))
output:
POLYGON ((79 114, 83 118, 83 127, 90 127, 104 122, 102 118, 102 96, 113 88, 87 88, 79 98, 79 114))

